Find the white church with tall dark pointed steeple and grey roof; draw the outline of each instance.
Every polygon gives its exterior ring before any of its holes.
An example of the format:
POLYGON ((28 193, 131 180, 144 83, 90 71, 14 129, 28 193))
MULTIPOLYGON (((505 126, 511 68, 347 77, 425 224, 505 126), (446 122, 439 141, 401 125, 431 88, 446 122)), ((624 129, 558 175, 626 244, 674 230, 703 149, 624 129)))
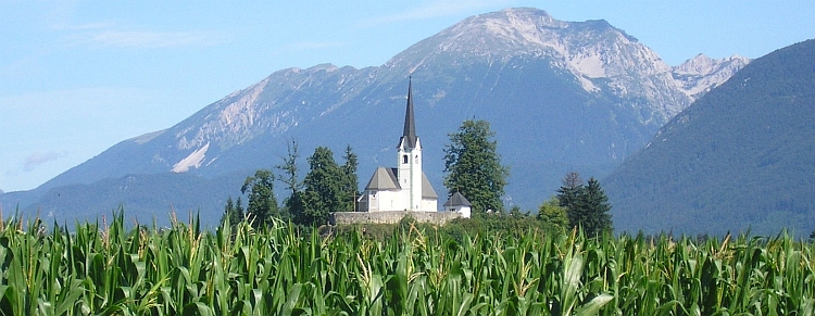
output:
MULTIPOLYGON (((378 167, 358 200, 360 212, 438 212, 439 195, 422 170, 422 142, 413 116, 413 87, 408 84, 404 129, 397 144, 397 167, 378 167)), ((446 211, 469 217, 469 202, 457 194, 446 211)))

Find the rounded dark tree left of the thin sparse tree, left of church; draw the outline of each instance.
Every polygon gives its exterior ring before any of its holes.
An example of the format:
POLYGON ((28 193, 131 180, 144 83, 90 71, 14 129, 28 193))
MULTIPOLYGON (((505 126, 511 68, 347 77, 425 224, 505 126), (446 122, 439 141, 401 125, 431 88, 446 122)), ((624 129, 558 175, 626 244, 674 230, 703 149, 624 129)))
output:
POLYGON ((281 217, 274 193, 274 176, 271 170, 260 169, 254 176, 247 177, 240 192, 249 194, 247 215, 252 217, 252 225, 261 227, 272 217, 281 217))

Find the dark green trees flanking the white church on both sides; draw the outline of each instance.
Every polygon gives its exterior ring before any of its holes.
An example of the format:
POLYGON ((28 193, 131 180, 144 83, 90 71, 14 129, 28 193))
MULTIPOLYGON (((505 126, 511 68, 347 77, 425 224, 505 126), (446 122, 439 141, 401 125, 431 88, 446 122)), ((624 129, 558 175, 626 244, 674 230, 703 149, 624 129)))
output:
MULTIPOLYGON (((519 208, 505 212, 504 187, 510 168, 501 164, 496 132, 486 121, 465 121, 460 128, 449 135, 444 146, 444 187, 449 195, 463 194, 472 204, 473 220, 492 220, 489 216, 521 216, 519 208)), ((298 160, 300 151, 296 140, 287 143, 287 154, 283 162, 271 169, 256 170, 247 177, 240 192, 248 197, 246 210, 241 198, 237 202, 229 198, 226 202, 223 220, 238 223, 246 218, 260 227, 272 218, 291 220, 296 225, 319 226, 328 220, 330 212, 352 212, 360 197, 358 156, 351 146, 347 146, 342 164, 334 159, 326 147, 318 147, 308 157, 309 173, 299 178, 298 160), (274 182, 283 182, 289 195, 278 206, 274 193, 274 182)), ((448 197, 449 197, 448 195, 448 197)), ((556 195, 543 202, 536 219, 549 227, 570 229, 580 227, 588 235, 612 230, 611 205, 600 184, 593 177, 584 185, 577 173, 568 173, 556 195)), ((485 223, 487 223, 485 222, 485 223)))

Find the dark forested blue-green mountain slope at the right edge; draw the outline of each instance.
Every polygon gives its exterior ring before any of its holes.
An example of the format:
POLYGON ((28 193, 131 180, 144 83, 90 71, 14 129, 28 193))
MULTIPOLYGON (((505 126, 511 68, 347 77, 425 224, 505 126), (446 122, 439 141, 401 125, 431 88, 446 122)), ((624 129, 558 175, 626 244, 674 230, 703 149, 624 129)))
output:
POLYGON ((815 229, 815 40, 760 58, 604 181, 615 228, 815 229))

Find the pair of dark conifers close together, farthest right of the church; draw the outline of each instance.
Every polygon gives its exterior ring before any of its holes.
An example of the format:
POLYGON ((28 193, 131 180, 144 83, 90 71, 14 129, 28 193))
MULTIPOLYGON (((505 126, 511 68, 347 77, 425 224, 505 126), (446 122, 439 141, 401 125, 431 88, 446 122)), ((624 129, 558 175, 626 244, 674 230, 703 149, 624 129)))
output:
POLYGON ((577 173, 569 173, 563 184, 557 199, 566 208, 569 226, 581 227, 588 236, 612 230, 611 204, 600 181, 591 177, 588 186, 584 186, 577 173))

